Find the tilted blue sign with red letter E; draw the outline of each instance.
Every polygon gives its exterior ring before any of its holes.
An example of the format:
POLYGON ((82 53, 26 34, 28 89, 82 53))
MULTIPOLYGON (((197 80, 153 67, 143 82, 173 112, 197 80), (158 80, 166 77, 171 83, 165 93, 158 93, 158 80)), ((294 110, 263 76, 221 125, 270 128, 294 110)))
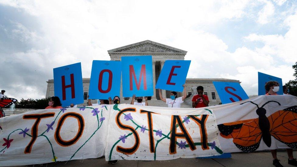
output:
POLYGON ((155 88, 183 92, 190 63, 190 60, 166 60, 155 88))

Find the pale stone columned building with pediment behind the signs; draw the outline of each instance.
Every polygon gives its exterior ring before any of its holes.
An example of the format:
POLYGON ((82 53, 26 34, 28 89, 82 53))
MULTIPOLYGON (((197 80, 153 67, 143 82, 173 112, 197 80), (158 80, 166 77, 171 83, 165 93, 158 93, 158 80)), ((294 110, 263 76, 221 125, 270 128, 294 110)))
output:
MULTIPOLYGON (((110 60, 112 61, 121 61, 122 56, 141 56, 141 55, 152 55, 152 70, 153 70, 153 85, 155 88, 156 82, 159 78, 161 69, 166 60, 184 60, 187 51, 170 47, 161 43, 156 43, 150 40, 145 40, 142 42, 134 43, 131 45, 118 47, 115 49, 108 50, 110 60)), ((239 82, 239 80, 225 79, 225 78, 187 78, 186 79, 186 91, 190 96, 185 99, 184 105, 182 107, 191 108, 191 99, 194 94, 197 94, 197 86, 204 87, 204 94, 208 96, 209 106, 218 105, 221 103, 218 93, 215 90, 215 87, 212 81, 221 81, 221 82, 239 82)), ((83 90, 84 90, 84 104, 87 103, 87 95, 89 92, 89 83, 90 78, 83 78, 83 90)), ((240 83, 240 82, 239 82, 240 83)), ((170 98, 170 90, 162 90, 163 98, 170 98)), ((182 92, 178 92, 177 96, 181 96, 182 92)), ((50 79, 47 81, 47 92, 46 97, 54 96, 54 80, 50 79)), ((121 103, 130 103, 131 98, 123 98, 122 96, 122 82, 121 82, 121 91, 120 91, 121 103)), ((96 103, 96 101, 92 101, 96 103)), ((152 106, 166 106, 164 102, 159 100, 159 90, 154 89, 154 95, 150 97, 149 105, 152 106)))

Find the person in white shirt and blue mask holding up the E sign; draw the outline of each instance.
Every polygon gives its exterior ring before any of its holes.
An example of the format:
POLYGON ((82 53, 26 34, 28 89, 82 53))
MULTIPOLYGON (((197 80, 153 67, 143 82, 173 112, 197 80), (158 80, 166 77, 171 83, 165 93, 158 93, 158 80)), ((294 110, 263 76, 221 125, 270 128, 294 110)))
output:
POLYGON ((168 104, 168 107, 180 108, 180 104, 183 103, 183 100, 187 98, 186 85, 183 85, 183 96, 181 97, 177 97, 177 93, 175 91, 172 91, 170 92, 170 99, 164 99, 162 97, 161 89, 159 89, 159 96, 163 102, 168 104))

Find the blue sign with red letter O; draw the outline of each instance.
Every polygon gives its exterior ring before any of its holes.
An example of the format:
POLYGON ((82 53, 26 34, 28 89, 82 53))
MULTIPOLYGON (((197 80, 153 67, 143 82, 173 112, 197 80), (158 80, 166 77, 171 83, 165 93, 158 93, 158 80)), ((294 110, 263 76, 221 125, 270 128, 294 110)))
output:
POLYGON ((89 99, 120 96, 121 61, 93 60, 89 99))

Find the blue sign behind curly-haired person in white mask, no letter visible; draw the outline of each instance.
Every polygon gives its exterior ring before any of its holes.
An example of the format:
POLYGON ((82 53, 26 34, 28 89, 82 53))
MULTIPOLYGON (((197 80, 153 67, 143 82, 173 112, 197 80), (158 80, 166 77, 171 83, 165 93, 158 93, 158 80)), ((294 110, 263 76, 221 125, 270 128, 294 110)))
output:
POLYGON ((278 95, 283 95, 283 82, 281 78, 274 77, 272 75, 264 74, 258 72, 258 95, 265 95, 268 91, 265 90, 265 84, 268 81, 276 81, 279 83, 279 91, 277 92, 278 95))

